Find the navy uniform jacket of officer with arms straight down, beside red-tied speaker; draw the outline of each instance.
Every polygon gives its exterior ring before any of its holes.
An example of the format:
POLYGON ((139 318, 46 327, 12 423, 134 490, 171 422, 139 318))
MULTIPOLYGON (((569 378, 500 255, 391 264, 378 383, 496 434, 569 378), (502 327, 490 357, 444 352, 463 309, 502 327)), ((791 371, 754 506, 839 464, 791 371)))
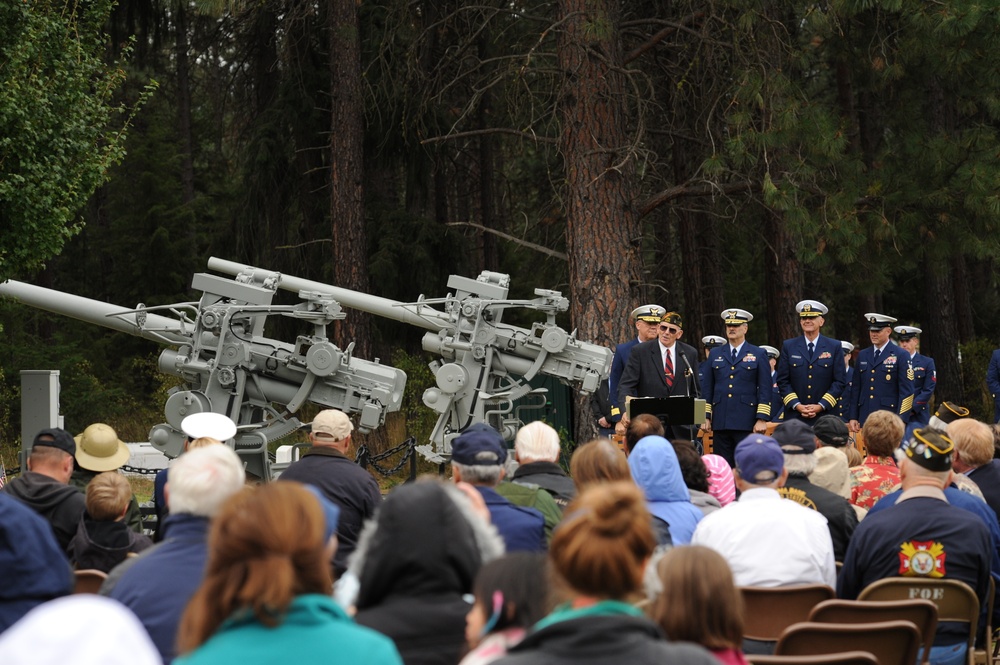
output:
POLYGON ((712 429, 749 432, 758 418, 771 419, 771 363, 764 349, 749 342, 744 342, 736 364, 730 354, 725 344, 708 355, 702 375, 706 415, 712 429))

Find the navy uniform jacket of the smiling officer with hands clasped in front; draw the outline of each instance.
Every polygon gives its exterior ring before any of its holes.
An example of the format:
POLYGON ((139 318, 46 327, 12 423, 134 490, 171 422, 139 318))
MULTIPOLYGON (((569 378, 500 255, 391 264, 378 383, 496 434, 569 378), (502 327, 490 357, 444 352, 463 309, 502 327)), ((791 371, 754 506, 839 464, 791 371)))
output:
POLYGON ((785 405, 785 420, 800 418, 799 404, 819 404, 824 411, 837 407, 844 392, 844 347, 840 342, 820 335, 812 358, 802 335, 785 340, 778 358, 778 391, 785 405))

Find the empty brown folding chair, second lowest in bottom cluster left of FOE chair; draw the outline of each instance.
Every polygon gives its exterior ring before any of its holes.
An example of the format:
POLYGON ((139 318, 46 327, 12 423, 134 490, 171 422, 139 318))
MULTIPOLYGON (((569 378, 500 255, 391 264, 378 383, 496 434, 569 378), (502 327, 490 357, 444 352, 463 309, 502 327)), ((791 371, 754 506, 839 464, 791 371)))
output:
POLYGON ((867 651, 879 665, 913 665, 920 647, 920 631, 909 621, 869 624, 803 622, 789 626, 774 653, 778 656, 814 656, 867 651))

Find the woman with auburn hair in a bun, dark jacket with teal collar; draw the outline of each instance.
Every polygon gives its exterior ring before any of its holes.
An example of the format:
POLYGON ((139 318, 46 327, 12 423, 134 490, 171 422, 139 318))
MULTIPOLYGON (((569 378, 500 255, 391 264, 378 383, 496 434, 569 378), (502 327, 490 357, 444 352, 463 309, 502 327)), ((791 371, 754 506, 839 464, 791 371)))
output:
POLYGON ((664 641, 656 625, 632 605, 655 546, 638 487, 615 482, 585 489, 566 509, 549 545, 553 582, 569 601, 495 663, 718 665, 700 647, 664 641))

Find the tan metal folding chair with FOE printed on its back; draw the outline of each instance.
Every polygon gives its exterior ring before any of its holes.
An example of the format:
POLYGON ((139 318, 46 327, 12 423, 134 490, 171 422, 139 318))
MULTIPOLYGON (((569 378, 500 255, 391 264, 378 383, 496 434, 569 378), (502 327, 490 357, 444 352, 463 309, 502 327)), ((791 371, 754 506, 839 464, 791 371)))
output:
MULTIPOLYGON (((910 600, 925 598, 938 606, 938 623, 966 623, 968 633, 968 663, 976 662, 976 631, 979 628, 979 598, 965 582, 928 577, 887 577, 872 582, 861 590, 858 600, 910 600)), ((989 663, 988 650, 981 654, 989 663)))

